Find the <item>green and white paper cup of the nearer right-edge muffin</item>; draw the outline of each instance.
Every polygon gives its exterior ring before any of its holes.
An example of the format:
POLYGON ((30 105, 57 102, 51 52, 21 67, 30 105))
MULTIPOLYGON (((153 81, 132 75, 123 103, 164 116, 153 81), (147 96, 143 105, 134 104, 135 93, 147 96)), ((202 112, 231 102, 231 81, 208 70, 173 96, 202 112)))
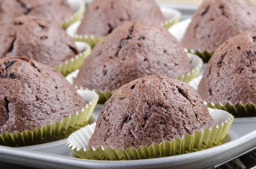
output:
MULTIPOLYGON (((198 76, 189 83, 189 85, 192 86, 195 91, 198 90, 198 85, 202 77, 203 75, 198 76)), ((246 105, 243 105, 241 102, 238 102, 234 105, 230 102, 225 103, 224 105, 222 103, 207 103, 205 101, 204 103, 208 108, 227 111, 231 113, 234 117, 256 117, 256 105, 251 102, 247 103, 246 105)))

